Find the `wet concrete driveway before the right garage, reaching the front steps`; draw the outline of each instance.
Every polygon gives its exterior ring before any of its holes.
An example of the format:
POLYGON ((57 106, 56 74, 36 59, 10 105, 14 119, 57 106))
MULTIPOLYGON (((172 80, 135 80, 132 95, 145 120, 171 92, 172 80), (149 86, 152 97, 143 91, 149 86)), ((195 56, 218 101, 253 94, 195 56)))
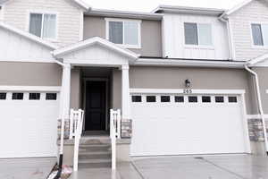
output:
POLYGON ((268 158, 250 155, 136 158, 109 168, 80 169, 71 179, 266 179, 268 158))

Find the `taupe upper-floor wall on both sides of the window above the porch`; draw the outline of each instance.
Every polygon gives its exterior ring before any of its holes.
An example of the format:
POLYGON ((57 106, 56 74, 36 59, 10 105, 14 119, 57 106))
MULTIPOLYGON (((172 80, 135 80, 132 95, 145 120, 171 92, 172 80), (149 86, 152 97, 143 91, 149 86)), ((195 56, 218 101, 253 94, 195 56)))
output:
MULTIPOLYGON (((106 38, 105 17, 85 16, 84 39, 100 37, 106 38)), ((131 51, 143 56, 162 56, 161 21, 141 22, 141 48, 131 51)))

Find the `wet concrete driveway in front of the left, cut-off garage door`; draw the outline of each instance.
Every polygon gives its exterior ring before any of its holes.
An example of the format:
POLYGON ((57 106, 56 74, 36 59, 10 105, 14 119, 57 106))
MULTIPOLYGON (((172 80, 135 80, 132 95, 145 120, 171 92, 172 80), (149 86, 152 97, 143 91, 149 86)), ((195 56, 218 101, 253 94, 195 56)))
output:
POLYGON ((56 158, 0 159, 0 179, 46 179, 56 158))

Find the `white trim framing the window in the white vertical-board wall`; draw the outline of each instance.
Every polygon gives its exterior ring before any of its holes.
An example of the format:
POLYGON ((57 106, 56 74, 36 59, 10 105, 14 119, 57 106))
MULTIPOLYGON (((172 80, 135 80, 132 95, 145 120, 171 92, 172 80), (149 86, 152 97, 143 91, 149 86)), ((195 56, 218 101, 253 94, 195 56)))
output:
POLYGON ((184 47, 185 48, 204 48, 204 49, 214 49, 214 26, 211 22, 197 22, 197 21, 183 21, 183 25, 182 25, 182 33, 183 33, 183 40, 184 40, 184 47), (185 41, 185 27, 184 24, 185 23, 196 23, 197 24, 197 38, 198 38, 198 45, 189 45, 186 44, 185 41), (210 46, 205 46, 205 45, 200 45, 200 38, 199 38, 199 24, 206 24, 206 25, 210 25, 211 27, 211 38, 212 38, 212 45, 210 46))

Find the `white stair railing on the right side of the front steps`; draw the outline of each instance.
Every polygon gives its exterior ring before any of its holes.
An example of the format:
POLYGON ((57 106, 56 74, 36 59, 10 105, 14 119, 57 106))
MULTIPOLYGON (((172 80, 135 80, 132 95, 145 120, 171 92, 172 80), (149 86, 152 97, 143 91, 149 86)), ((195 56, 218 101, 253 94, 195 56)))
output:
POLYGON ((110 138, 112 143, 112 169, 116 169, 116 138, 121 137, 121 111, 110 110, 110 138))

